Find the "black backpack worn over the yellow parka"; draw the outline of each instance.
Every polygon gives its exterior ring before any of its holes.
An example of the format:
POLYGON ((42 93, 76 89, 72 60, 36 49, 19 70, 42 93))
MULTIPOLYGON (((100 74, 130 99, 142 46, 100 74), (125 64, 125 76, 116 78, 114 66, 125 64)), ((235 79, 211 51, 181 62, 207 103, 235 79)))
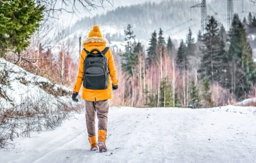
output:
POLYGON ((109 50, 106 47, 103 51, 93 49, 86 51, 87 56, 83 61, 83 87, 90 90, 105 90, 109 84, 109 68, 105 53, 109 50), (97 51, 98 53, 93 53, 97 51))

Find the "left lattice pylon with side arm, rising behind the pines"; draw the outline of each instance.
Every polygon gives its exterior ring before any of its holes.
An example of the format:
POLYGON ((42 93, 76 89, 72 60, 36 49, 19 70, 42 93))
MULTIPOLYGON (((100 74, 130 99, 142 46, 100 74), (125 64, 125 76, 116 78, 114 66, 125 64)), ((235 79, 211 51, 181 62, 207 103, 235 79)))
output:
POLYGON ((194 5, 190 7, 191 8, 201 8, 201 31, 204 34, 205 28, 207 24, 207 7, 206 7, 206 0, 202 0, 201 4, 194 5))

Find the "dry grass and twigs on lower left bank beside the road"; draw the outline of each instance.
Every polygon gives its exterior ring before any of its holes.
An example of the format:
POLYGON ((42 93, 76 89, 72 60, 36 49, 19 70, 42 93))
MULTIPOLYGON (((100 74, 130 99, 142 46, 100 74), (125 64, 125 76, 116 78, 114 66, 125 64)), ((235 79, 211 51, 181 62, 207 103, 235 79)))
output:
POLYGON ((0 148, 14 147, 11 141, 16 137, 30 137, 31 132, 53 130, 71 117, 70 113, 81 112, 84 108, 84 103, 70 106, 61 100, 49 103, 49 98, 39 97, 36 101, 26 98, 20 105, 8 109, 0 106, 0 148))

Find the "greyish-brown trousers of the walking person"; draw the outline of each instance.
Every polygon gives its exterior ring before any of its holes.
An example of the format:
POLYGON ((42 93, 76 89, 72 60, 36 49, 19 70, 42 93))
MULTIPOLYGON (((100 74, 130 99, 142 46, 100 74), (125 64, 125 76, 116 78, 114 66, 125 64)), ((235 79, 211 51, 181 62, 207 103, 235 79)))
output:
POLYGON ((98 129, 106 131, 108 124, 109 100, 86 100, 86 126, 89 137, 95 136, 95 117, 99 120, 98 129))

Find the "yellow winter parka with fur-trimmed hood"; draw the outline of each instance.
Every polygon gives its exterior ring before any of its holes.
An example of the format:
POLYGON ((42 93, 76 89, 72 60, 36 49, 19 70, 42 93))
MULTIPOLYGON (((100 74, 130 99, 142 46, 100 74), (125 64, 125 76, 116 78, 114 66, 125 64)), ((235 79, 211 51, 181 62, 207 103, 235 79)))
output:
MULTIPOLYGON (((87 51, 91 51, 93 49, 98 49, 100 51, 104 50, 108 41, 103 37, 89 37, 83 41, 83 47, 86 48, 87 51)), ((94 53, 97 53, 95 51, 94 53)), ((83 61, 86 58, 87 53, 82 50, 80 53, 80 63, 78 69, 78 75, 74 87, 74 92, 79 92, 80 87, 83 82, 83 61)), ((112 83, 113 85, 118 85, 118 78, 116 73, 116 68, 114 64, 114 59, 111 50, 109 49, 105 53, 106 59, 108 60, 108 68, 109 68, 109 84, 108 88, 105 90, 90 90, 82 87, 81 97, 88 101, 99 101, 106 100, 112 98, 112 83), (112 80, 112 83, 111 83, 112 80)))

